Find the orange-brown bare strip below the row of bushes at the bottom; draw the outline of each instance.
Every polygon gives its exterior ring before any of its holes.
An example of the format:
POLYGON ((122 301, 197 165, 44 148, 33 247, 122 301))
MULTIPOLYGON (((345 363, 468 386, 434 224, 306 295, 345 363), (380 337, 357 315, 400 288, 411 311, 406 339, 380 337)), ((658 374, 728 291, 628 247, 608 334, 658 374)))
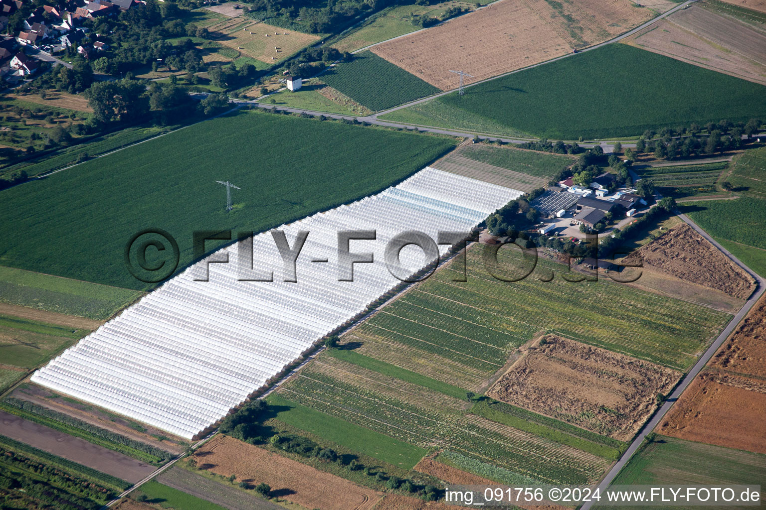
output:
POLYGON ((211 465, 213 473, 282 489, 281 498, 305 508, 370 510, 381 498, 372 489, 222 434, 205 443, 195 458, 198 465, 211 465))

